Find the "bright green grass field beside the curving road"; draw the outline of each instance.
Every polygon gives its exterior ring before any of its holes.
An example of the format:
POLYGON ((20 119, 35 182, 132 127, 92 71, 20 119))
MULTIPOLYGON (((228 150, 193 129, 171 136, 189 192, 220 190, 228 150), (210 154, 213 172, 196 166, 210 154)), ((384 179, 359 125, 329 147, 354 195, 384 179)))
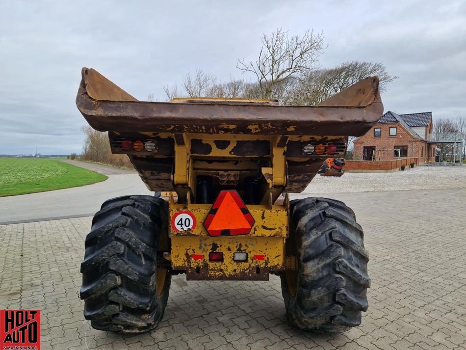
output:
POLYGON ((103 174, 52 159, 0 158, 0 197, 94 184, 103 174))

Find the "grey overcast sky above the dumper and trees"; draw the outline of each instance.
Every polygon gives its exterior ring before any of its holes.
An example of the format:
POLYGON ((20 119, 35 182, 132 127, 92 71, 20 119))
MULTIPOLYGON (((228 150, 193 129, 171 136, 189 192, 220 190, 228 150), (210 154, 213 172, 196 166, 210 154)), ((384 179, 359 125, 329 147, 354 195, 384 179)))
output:
POLYGON ((82 66, 163 100, 196 67, 240 77, 236 59, 278 27, 322 31, 322 67, 384 63, 399 77, 386 111, 466 114, 465 1, 1 1, 0 154, 81 151, 82 66))

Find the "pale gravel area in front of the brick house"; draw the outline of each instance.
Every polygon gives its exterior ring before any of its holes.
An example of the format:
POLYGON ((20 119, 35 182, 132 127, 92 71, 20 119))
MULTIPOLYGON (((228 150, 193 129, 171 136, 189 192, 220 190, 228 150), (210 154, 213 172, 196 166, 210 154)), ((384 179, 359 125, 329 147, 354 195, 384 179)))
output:
POLYGON ((341 177, 316 175, 304 193, 435 188, 466 188, 466 166, 416 166, 387 173, 345 173, 341 177))

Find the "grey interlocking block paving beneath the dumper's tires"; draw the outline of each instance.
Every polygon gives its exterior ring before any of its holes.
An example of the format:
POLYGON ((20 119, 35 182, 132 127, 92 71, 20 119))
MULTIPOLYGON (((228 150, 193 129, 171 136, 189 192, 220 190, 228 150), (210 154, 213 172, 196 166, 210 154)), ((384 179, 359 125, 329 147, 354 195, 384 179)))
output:
POLYGON ((90 328, 78 298, 91 218, 0 226, 0 308, 38 308, 42 349, 465 349, 466 189, 333 194, 356 212, 371 256, 369 310, 344 334, 286 321, 280 280, 174 276, 157 330, 90 328))

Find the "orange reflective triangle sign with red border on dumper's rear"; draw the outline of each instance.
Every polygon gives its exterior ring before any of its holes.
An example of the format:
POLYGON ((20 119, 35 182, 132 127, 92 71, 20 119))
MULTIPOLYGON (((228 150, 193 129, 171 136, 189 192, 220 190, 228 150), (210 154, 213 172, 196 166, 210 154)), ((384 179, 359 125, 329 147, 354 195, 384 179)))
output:
POLYGON ((254 218, 235 190, 220 191, 204 221, 210 236, 247 235, 254 218))

